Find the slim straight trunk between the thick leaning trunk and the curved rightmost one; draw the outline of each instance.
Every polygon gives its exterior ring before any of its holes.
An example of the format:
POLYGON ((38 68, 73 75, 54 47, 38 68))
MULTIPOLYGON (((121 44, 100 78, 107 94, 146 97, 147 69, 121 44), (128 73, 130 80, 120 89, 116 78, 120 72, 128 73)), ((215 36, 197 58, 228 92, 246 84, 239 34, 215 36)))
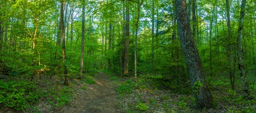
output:
POLYGON ((231 24, 230 24, 230 5, 229 0, 226 0, 226 10, 227 10, 227 19, 228 19, 228 48, 229 48, 229 66, 230 66, 230 82, 232 89, 235 89, 235 65, 233 58, 233 44, 232 44, 232 33, 231 33, 231 24))

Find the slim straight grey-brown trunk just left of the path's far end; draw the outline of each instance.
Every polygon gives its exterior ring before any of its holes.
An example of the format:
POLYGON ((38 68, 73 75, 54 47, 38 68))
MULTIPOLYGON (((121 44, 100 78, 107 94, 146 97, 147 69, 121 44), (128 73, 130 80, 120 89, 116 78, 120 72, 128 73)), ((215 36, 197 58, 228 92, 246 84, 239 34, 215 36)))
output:
POLYGON ((80 77, 82 77, 84 67, 84 21, 85 21, 85 0, 82 8, 82 37, 81 37, 81 60, 80 60, 80 77))

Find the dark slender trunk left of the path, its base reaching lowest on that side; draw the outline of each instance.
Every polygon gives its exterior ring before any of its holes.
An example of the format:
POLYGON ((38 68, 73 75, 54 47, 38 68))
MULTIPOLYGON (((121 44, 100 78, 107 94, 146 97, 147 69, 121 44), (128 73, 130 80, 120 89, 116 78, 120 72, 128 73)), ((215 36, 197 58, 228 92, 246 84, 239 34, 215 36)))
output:
POLYGON ((66 65, 66 45, 65 45, 65 24, 64 24, 64 7, 65 1, 60 2, 60 27, 61 27, 61 38, 62 38, 62 60, 63 60, 63 67, 64 67, 64 76, 65 80, 63 85, 68 85, 68 71, 66 65))

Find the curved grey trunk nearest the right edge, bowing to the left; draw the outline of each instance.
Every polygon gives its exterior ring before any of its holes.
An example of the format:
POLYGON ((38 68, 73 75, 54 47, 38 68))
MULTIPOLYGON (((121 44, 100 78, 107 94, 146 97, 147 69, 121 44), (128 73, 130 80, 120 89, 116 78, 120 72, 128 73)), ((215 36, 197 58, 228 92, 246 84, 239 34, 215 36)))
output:
POLYGON ((239 68, 240 77, 241 77, 241 80, 242 80, 242 87, 243 87, 243 91, 244 91, 244 96, 247 97, 247 96, 250 95, 250 92, 249 92, 249 88, 248 88, 248 83, 246 81, 246 73, 245 73, 244 60, 243 60, 243 47, 242 47, 245 5, 246 5, 246 0, 242 0, 240 19, 239 19, 239 25, 238 25, 237 53, 238 53, 238 68, 239 68))

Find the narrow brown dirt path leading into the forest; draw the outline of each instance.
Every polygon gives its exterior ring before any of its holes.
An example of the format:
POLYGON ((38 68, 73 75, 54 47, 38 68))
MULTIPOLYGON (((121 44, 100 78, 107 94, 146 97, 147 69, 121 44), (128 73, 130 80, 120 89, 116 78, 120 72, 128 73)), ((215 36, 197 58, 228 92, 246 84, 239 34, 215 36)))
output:
POLYGON ((111 86, 109 76, 98 72, 95 84, 88 86, 84 95, 84 109, 78 112, 119 112, 115 89, 111 86))

